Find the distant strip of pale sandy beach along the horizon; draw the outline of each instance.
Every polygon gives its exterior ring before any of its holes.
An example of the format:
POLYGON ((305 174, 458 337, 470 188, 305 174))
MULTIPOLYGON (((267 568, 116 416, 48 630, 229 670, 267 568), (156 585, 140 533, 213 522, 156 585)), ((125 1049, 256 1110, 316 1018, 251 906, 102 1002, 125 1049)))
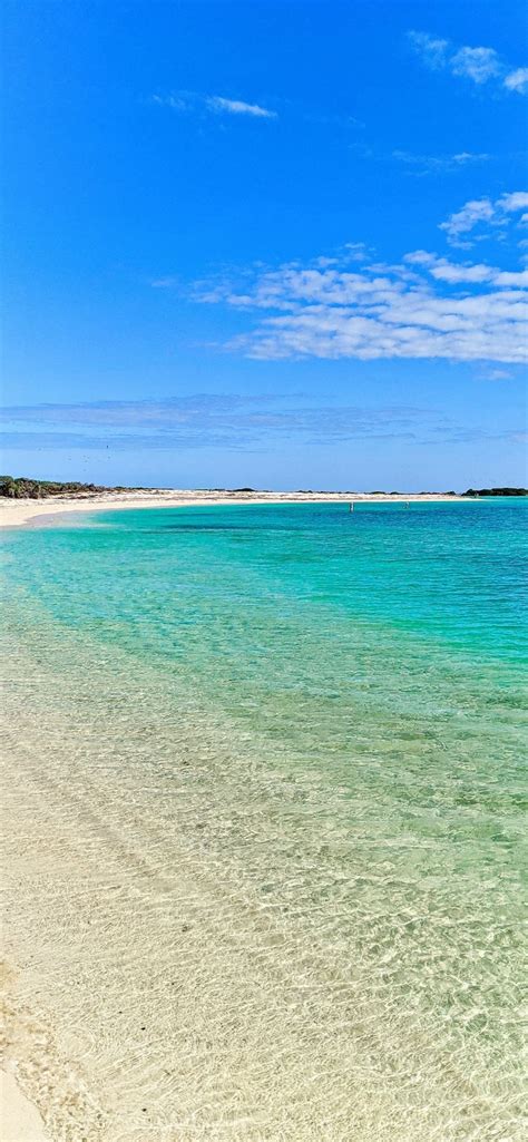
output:
POLYGON ((94 496, 57 496, 49 499, 2 499, 0 528, 17 528, 47 516, 62 516, 70 512, 104 512, 112 508, 138 507, 198 507, 205 504, 350 504, 355 502, 435 502, 464 501, 462 496, 441 492, 383 493, 368 492, 216 492, 157 490, 142 492, 97 492, 94 496))

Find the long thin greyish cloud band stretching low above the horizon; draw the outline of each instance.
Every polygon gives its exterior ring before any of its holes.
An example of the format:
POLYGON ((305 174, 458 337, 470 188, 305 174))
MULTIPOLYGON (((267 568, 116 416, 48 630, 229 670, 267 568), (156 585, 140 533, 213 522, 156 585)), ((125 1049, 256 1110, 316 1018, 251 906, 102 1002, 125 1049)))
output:
POLYGON ((2 443, 10 449, 127 451, 318 445, 339 441, 400 440, 407 444, 480 439, 445 412, 415 405, 371 408, 317 403, 280 394, 197 394, 163 401, 102 401, 5 409, 2 443))

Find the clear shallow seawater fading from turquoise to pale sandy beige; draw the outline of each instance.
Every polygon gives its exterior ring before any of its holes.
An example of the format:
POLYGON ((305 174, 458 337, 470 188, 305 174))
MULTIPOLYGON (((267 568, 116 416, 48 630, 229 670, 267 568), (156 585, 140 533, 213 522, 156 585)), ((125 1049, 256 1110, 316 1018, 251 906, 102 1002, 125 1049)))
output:
POLYGON ((523 1136, 527 506, 6 533, 9 1051, 54 1137, 523 1136))

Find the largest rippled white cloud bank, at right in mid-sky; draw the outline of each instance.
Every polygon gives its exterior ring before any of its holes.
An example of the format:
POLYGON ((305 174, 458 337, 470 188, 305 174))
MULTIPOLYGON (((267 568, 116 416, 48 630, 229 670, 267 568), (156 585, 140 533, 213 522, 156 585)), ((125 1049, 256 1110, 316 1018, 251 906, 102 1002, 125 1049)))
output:
POLYGON ((527 357, 528 275, 456 266, 415 251, 405 265, 287 264, 221 282, 198 299, 261 316, 227 346, 256 359, 315 356, 521 362, 527 357), (462 291, 457 287, 463 287, 462 291), (443 287, 443 288, 442 288, 443 287))

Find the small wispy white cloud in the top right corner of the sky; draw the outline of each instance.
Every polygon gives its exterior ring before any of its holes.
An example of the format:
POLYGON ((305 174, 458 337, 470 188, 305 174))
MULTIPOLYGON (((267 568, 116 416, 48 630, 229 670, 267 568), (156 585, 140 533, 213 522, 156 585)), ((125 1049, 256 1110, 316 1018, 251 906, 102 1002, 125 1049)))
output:
POLYGON ((450 40, 427 32, 409 32, 409 40, 423 64, 432 71, 449 71, 471 80, 477 87, 495 81, 507 91, 528 91, 528 67, 513 67, 495 48, 457 47, 450 40))

